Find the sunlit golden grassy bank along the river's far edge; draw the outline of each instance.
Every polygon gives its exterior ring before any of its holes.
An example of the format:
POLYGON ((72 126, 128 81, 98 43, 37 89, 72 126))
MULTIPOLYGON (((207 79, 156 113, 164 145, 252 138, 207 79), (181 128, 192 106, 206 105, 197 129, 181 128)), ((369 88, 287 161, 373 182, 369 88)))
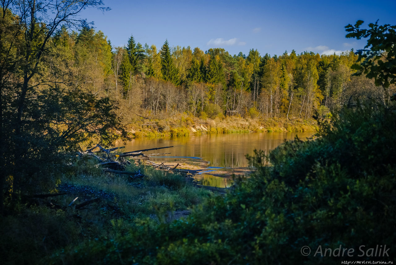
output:
POLYGON ((318 128, 314 119, 244 118, 239 116, 193 117, 185 113, 172 117, 166 115, 136 115, 127 125, 133 138, 187 136, 199 134, 223 134, 242 132, 315 132, 318 128))

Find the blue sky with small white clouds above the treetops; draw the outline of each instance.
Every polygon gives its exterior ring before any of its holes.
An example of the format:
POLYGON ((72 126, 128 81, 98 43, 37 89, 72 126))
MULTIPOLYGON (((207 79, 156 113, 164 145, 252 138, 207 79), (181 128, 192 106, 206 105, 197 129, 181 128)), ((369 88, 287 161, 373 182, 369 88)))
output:
POLYGON ((314 51, 334 53, 361 49, 365 41, 345 38, 344 26, 357 20, 396 25, 396 0, 372 1, 127 1, 104 0, 110 11, 86 9, 113 46, 136 42, 199 47, 222 47, 231 55, 251 48, 261 55, 314 51))

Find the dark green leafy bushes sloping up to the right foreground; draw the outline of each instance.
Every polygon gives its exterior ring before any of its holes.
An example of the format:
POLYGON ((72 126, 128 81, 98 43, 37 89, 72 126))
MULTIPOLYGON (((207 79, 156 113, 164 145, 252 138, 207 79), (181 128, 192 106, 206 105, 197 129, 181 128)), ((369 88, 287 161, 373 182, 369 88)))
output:
MULTIPOLYGON (((141 219, 115 239, 87 239, 58 251, 51 264, 334 264, 376 260, 364 250, 390 248, 396 236, 396 109, 345 108, 323 123, 320 138, 296 139, 249 157, 257 172, 225 197, 211 197, 187 218, 141 219), (352 257, 314 255, 318 247, 353 248, 352 257), (309 256, 301 248, 309 246, 309 256)), ((324 252, 322 252, 324 254, 324 252)), ((371 252, 371 255, 373 253, 371 252)))

